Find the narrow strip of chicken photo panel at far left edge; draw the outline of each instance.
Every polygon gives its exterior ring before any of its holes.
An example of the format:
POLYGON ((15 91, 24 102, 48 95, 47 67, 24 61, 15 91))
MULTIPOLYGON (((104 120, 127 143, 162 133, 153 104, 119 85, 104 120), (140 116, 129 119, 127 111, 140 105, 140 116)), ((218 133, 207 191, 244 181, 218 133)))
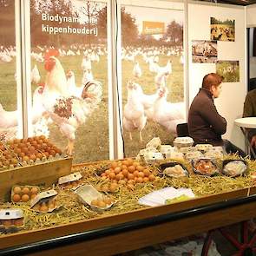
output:
MULTIPOLYGON (((0 1, 0 141, 17 133, 15 1, 0 1)), ((20 110, 20 109, 19 109, 20 110)))

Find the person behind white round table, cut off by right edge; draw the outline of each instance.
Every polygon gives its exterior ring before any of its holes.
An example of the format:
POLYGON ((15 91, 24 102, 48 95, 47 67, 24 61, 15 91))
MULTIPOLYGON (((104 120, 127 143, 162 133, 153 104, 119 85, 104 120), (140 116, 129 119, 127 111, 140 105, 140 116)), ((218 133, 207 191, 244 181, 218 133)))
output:
MULTIPOLYGON (((256 116, 256 89, 249 91, 244 103, 243 117, 256 116)), ((256 152, 256 129, 248 129, 248 139, 251 142, 254 152, 256 152)))

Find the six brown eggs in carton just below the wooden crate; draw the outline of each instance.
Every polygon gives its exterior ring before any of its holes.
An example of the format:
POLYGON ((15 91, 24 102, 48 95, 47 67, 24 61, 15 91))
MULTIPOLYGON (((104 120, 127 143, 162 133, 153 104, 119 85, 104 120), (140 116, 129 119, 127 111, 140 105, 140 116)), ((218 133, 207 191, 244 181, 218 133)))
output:
POLYGON ((16 186, 12 188, 11 200, 17 202, 28 202, 36 197, 39 193, 38 187, 20 187, 16 186))

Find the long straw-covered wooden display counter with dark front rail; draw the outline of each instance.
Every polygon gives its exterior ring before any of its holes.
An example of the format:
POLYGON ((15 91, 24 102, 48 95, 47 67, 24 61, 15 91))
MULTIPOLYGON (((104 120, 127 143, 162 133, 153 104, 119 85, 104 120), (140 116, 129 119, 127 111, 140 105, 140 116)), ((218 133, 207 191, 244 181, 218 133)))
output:
MULTIPOLYGON (((235 155, 225 158, 238 159, 235 155)), ((174 160, 165 160, 164 165, 167 161, 174 160)), ((217 162, 217 167, 223 167, 224 162, 223 159, 217 162)), ((109 180, 104 175, 110 173, 110 169, 119 168, 118 164, 121 167, 127 164, 128 170, 134 171, 135 164, 139 164, 135 160, 75 165, 72 173, 81 172, 81 184, 90 184, 98 189, 106 182, 117 182, 119 190, 112 195, 116 200, 115 206, 95 212, 88 205, 84 206, 72 189, 60 187, 56 182, 50 187, 43 187, 43 190, 54 188, 58 191, 62 207, 53 213, 38 213, 29 202, 3 202, 2 208, 23 209, 26 220, 22 231, 0 234, 0 255, 110 255, 249 220, 256 217, 256 187, 253 187, 252 176, 255 161, 245 162, 249 173, 234 178, 224 173, 213 177, 199 175, 193 172, 189 161, 180 160, 189 176, 178 179, 161 173, 159 162, 141 162, 136 168, 143 168, 148 178, 151 172, 154 179, 132 184, 109 180), (138 203, 141 196, 163 187, 193 188, 196 197, 161 207, 145 207, 138 203)), ((29 183, 27 179, 26 184, 29 183)))

